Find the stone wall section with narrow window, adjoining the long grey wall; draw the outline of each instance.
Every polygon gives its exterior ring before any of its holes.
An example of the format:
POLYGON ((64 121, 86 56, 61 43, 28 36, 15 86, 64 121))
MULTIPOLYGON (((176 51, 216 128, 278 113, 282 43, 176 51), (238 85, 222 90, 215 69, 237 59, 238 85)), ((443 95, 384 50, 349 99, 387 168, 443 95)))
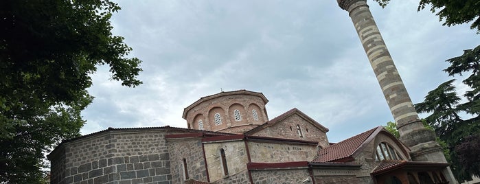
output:
POLYGON ((170 153, 172 183, 184 183, 183 159, 187 161, 188 175, 196 181, 207 181, 201 137, 167 139, 170 153))

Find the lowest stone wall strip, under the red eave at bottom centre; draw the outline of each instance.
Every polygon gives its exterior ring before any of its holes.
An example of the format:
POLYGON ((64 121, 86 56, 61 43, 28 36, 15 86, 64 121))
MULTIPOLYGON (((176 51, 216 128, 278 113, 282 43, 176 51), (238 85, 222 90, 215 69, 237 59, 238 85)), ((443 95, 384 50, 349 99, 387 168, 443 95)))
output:
POLYGON ((282 169, 282 170, 252 170, 251 176, 255 184, 269 183, 302 183, 310 176, 305 169, 282 169))

